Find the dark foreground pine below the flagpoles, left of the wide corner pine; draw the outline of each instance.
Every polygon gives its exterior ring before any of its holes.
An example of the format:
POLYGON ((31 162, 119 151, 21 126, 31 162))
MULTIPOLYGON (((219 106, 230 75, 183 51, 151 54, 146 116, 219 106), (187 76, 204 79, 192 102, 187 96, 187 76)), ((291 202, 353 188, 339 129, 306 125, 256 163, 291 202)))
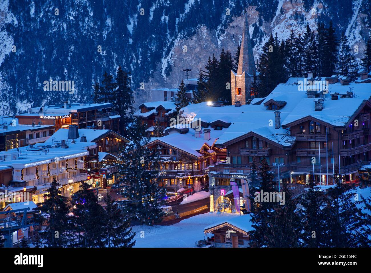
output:
POLYGON ((322 204, 324 194, 319 191, 314 181, 309 182, 308 191, 301 195, 299 203, 302 205, 301 218, 303 232, 301 234, 302 247, 321 247, 323 233, 322 204))

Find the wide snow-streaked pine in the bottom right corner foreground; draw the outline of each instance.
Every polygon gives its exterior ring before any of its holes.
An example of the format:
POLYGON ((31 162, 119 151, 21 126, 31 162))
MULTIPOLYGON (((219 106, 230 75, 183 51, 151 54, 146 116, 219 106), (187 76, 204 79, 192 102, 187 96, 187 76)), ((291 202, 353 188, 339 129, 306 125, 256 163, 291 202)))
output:
POLYGON ((325 247, 360 247, 365 238, 365 216, 357 207, 354 188, 342 183, 335 172, 335 187, 329 189, 324 211, 325 247))

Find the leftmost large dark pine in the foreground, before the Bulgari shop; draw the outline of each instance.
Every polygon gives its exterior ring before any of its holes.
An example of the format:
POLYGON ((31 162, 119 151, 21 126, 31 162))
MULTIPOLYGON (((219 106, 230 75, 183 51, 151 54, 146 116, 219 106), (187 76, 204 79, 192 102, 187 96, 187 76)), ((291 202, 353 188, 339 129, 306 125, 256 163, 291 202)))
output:
POLYGON ((35 221, 39 224, 46 223, 46 229, 39 232, 46 247, 66 247, 70 239, 68 199, 61 194, 59 183, 54 178, 44 195, 44 203, 36 208, 39 213, 35 214, 35 221))

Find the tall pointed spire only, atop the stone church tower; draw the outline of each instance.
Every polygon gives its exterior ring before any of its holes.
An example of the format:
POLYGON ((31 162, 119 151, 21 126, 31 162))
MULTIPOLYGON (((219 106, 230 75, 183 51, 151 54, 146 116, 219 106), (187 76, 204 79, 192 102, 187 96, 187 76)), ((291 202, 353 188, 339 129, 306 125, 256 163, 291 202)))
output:
POLYGON ((237 75, 245 74, 254 75, 256 72, 255 69, 255 60, 253 55, 253 49, 251 46, 250 32, 249 32, 249 22, 247 21, 247 12, 244 10, 244 24, 243 24, 243 33, 241 41, 241 50, 240 58, 238 60, 238 69, 237 75))

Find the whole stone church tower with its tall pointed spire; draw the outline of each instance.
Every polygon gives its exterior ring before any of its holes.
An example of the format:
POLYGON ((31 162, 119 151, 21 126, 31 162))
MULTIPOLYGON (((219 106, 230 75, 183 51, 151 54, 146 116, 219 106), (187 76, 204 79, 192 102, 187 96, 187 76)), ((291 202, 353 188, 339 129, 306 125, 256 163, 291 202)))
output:
POLYGON ((242 105, 246 104, 246 97, 250 98, 250 87, 255 73, 255 60, 251 46, 249 22, 247 21, 247 12, 245 10, 237 73, 231 70, 232 105, 235 105, 236 101, 240 101, 242 105))

